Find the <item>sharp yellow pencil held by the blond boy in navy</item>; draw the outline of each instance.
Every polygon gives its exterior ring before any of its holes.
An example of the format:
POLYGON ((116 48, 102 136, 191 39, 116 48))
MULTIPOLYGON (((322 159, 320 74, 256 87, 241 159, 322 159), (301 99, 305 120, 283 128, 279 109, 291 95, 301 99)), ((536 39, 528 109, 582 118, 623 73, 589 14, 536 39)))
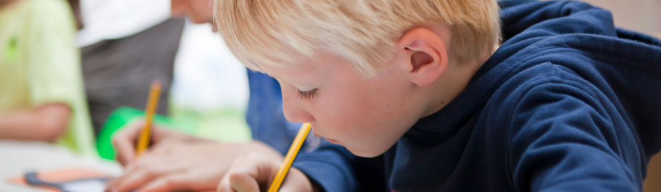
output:
POLYGON ((301 149, 301 146, 303 145, 305 138, 308 136, 308 133, 310 133, 310 123, 303 123, 301 130, 299 130, 298 134, 296 134, 294 143, 292 143, 291 147, 289 147, 289 152, 287 152, 287 155, 284 157, 282 166, 280 166, 280 169, 278 169, 277 173, 275 173, 275 178, 273 178, 273 182, 271 182, 271 186, 269 187, 268 192, 277 192, 277 190, 280 189, 280 185, 282 185, 284 177, 287 176, 289 168, 291 168, 291 164, 294 163, 294 159, 296 158, 298 151, 301 149))

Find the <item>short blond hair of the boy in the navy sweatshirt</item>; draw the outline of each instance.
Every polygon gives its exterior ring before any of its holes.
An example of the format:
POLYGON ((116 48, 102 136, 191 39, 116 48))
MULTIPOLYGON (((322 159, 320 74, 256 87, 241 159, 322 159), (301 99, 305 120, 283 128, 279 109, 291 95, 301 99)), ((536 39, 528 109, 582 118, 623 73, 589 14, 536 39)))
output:
POLYGON ((496 0, 216 0, 213 11, 229 50, 254 71, 324 49, 370 77, 406 30, 439 22, 459 58, 481 58, 501 38, 496 0))

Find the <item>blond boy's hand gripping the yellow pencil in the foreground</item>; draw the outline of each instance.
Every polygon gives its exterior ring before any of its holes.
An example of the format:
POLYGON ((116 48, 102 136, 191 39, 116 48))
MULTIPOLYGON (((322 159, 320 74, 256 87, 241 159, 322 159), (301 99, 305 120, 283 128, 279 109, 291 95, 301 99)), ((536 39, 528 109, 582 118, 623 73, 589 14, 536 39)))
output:
MULTIPOLYGON (((236 158, 232 167, 218 184, 218 192, 266 191, 280 169, 282 160, 274 160, 263 154, 250 154, 236 158)), ((319 191, 305 174, 291 167, 280 191, 319 191)))

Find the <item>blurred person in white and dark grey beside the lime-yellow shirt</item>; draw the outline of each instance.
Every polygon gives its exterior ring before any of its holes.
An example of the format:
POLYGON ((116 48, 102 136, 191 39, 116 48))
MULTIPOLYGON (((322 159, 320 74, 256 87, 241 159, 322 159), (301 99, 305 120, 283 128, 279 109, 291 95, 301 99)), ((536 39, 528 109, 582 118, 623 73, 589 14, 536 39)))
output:
POLYGON ((168 115, 184 19, 170 19, 167 0, 80 0, 80 8, 85 27, 77 42, 94 135, 117 108, 143 109, 153 80, 162 83, 157 113, 168 115))

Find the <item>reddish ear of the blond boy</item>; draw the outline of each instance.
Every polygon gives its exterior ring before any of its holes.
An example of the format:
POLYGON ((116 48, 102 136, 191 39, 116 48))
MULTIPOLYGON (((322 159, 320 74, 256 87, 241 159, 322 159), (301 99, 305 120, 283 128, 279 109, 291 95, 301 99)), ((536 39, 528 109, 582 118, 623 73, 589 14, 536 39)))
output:
POLYGON ((397 40, 395 56, 408 70, 411 82, 430 86, 448 67, 448 53, 443 40, 430 29, 418 27, 397 40))

